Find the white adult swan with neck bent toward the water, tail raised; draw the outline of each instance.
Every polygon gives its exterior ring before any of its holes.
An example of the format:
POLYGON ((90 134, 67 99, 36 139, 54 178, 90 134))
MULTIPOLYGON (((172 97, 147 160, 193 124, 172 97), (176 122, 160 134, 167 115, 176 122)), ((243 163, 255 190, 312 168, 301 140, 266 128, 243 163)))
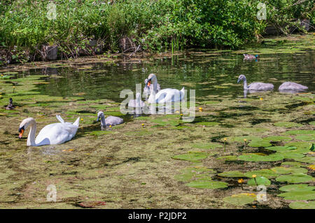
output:
POLYGON ((62 117, 59 115, 56 115, 56 117, 61 123, 52 123, 46 125, 43 127, 43 129, 41 129, 41 131, 39 131, 36 139, 36 122, 32 117, 26 118, 20 124, 19 138, 22 138, 25 129, 27 129, 27 127, 30 125, 31 129, 29 131, 29 136, 27 137, 28 146, 56 145, 71 140, 71 138, 76 135, 76 131, 78 130, 80 117, 78 117, 76 122, 73 124, 71 122, 64 122, 62 117))

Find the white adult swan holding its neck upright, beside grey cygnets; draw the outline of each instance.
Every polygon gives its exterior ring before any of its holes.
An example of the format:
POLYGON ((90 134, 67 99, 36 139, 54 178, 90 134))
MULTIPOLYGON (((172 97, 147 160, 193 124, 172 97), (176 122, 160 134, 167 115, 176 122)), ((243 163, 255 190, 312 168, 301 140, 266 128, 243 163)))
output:
POLYGON ((151 73, 148 76, 148 86, 150 87, 151 82, 153 82, 153 89, 151 89, 151 94, 148 98, 148 103, 167 103, 167 102, 176 102, 182 101, 185 96, 185 88, 183 87, 181 90, 166 88, 161 89, 157 93, 157 84, 158 80, 155 74, 151 73))

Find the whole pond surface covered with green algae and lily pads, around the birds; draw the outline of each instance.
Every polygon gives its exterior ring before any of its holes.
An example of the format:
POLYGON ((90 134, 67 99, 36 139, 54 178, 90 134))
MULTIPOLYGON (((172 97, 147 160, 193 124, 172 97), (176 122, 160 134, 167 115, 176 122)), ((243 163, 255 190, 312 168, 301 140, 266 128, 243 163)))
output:
MULTIPOLYGON (((313 36, 265 40, 237 51, 189 50, 107 62, 87 57, 18 73, 2 68, 0 207, 80 208, 87 201, 106 201, 104 208, 288 208, 278 195, 281 187, 314 184, 313 36), (244 61, 243 53, 260 59, 244 61), (150 73, 162 89, 195 89, 193 122, 183 122, 179 113, 120 113, 120 91, 135 92, 139 83, 143 88, 150 73), (274 91, 244 99, 240 74, 248 84, 272 83, 274 91), (279 93, 286 81, 306 85, 307 94, 279 93), (4 108, 9 98, 14 110, 4 108), (125 123, 101 131, 98 110, 125 123), (56 115, 66 122, 80 117, 71 141, 38 148, 26 146, 27 134, 19 140, 23 119, 34 117, 39 131, 57 122, 56 115), (254 201, 253 174, 267 186, 267 204, 254 201), (58 202, 46 201, 48 185, 57 187, 58 202)), ((289 195, 281 194, 297 200, 290 207, 305 206, 300 196, 289 195)), ((302 195, 312 199, 314 192, 302 195)))

